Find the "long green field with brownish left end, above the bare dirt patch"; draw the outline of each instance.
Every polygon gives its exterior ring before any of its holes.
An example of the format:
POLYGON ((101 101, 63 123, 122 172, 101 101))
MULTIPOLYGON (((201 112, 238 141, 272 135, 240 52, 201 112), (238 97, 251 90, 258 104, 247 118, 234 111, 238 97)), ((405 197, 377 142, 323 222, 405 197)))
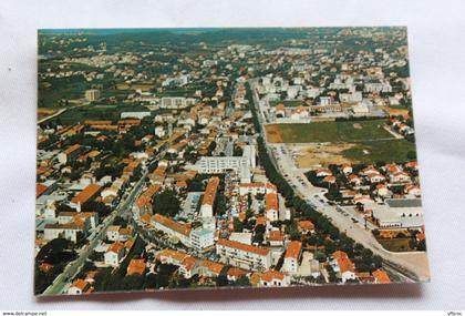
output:
POLYGON ((335 143, 393 139, 393 136, 382 128, 384 122, 384 120, 371 120, 280 124, 279 131, 285 143, 335 143))

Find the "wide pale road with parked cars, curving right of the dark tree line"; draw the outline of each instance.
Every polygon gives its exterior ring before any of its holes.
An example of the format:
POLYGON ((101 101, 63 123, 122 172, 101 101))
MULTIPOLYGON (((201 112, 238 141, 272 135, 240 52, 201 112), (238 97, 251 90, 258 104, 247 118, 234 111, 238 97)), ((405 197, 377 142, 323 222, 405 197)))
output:
MULTIPOLYGON (((252 98, 258 112, 259 123, 261 125, 260 133, 265 141, 264 134, 264 112, 260 109, 259 98, 254 88, 255 82, 250 80, 250 88, 252 90, 252 98)), ((322 197, 326 190, 313 186, 304 175, 302 170, 296 167, 290 153, 285 144, 269 144, 267 143, 267 151, 273 161, 278 171, 285 176, 288 183, 293 187, 296 195, 300 196, 312 205, 318 212, 328 216, 333 225, 341 232, 344 232, 349 237, 362 244, 364 247, 371 249, 374 254, 383 258, 384 267, 394 274, 399 279, 405 282, 430 279, 427 257, 425 252, 405 252, 393 253, 384 249, 380 243, 374 238, 371 230, 365 230, 364 223, 359 221, 354 223, 352 216, 344 216, 344 213, 338 212, 337 207, 329 205, 327 200, 322 197)))

